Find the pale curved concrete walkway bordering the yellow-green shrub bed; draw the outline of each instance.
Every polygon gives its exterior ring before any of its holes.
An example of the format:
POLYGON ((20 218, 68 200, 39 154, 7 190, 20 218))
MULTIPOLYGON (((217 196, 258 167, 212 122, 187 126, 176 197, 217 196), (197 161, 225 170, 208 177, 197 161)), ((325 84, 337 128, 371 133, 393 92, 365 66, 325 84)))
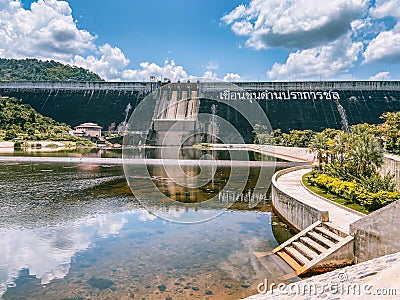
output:
POLYGON ((311 172, 311 169, 301 169, 282 175, 277 180, 279 189, 289 196, 298 199, 308 205, 320 210, 329 212, 329 220, 335 226, 349 233, 350 224, 361 219, 362 216, 345 210, 335 204, 323 200, 311 194, 302 184, 301 178, 304 174, 311 172))

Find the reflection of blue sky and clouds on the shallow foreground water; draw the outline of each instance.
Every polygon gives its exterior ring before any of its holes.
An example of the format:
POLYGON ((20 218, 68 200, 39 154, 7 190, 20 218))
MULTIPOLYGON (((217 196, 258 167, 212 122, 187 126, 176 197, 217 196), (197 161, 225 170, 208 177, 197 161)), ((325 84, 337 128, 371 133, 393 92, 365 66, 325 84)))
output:
POLYGON ((183 226, 139 209, 2 232, 3 297, 187 299, 207 291, 222 299, 248 296, 266 274, 253 252, 277 245, 270 222, 267 214, 230 212, 183 226), (104 282, 110 287, 103 288, 104 282))

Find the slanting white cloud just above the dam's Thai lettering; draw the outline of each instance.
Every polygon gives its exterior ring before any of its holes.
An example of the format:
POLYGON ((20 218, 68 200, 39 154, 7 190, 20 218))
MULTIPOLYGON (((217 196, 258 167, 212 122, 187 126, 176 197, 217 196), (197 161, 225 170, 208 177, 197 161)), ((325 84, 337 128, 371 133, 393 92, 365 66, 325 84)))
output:
POLYGON ((325 46, 293 52, 285 64, 275 63, 267 75, 281 80, 333 77, 354 65, 362 47, 361 42, 353 43, 347 35, 325 46))

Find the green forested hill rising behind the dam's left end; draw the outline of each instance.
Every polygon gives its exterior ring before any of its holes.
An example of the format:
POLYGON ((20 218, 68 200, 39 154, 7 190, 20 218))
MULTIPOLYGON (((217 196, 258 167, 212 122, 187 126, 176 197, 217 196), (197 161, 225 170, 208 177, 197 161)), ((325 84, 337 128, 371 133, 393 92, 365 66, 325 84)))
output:
POLYGON ((56 61, 0 58, 0 81, 104 81, 83 68, 56 61))

